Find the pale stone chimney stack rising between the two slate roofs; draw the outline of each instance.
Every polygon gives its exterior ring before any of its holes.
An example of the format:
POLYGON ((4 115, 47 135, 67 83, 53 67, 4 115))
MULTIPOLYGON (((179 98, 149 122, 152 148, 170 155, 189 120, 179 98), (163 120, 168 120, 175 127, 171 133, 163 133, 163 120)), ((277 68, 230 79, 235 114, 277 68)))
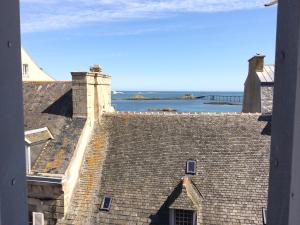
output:
POLYGON ((103 112, 114 111, 111 106, 111 76, 102 73, 100 65, 89 72, 71 72, 73 117, 97 119, 103 112))

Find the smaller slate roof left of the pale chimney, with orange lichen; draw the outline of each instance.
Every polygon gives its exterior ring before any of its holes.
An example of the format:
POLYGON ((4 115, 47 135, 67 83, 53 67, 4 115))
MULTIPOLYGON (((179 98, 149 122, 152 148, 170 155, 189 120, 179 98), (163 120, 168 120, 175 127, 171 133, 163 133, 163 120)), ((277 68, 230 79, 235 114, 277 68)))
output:
POLYGON ((71 82, 24 82, 24 127, 47 127, 53 140, 31 147, 33 173, 63 174, 85 119, 72 119, 71 82))

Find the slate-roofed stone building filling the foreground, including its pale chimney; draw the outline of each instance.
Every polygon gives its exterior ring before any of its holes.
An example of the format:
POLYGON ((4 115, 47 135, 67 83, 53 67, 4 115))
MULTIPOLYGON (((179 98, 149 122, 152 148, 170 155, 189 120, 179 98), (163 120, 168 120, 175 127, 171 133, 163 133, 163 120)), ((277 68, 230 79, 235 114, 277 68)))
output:
POLYGON ((99 66, 23 85, 34 225, 266 223, 260 113, 115 113, 99 66))

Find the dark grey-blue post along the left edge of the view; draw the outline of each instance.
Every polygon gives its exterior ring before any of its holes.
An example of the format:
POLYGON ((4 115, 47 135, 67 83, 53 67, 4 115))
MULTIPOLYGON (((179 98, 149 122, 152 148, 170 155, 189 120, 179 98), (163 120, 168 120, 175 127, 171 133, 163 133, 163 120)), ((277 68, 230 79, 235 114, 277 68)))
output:
POLYGON ((0 224, 27 224, 18 0, 0 1, 0 224))

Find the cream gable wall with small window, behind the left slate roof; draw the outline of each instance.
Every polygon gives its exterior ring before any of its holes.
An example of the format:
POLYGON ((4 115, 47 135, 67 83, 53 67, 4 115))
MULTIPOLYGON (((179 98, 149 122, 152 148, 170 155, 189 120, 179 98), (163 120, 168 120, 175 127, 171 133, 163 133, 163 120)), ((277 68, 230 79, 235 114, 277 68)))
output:
POLYGON ((21 48, 23 81, 54 81, 34 60, 24 48, 21 48))

